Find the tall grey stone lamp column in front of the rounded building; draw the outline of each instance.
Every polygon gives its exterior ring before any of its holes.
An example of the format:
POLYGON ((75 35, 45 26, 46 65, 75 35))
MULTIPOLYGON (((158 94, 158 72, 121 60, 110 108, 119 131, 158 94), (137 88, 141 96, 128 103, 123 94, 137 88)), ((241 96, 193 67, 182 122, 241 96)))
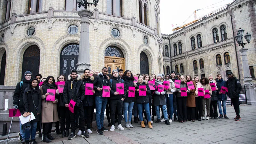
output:
POLYGON ((91 67, 90 64, 90 43, 89 43, 89 19, 92 17, 92 12, 89 10, 80 10, 78 15, 81 18, 81 33, 80 33, 80 42, 79 42, 79 56, 77 72, 82 75, 85 68, 91 67))

